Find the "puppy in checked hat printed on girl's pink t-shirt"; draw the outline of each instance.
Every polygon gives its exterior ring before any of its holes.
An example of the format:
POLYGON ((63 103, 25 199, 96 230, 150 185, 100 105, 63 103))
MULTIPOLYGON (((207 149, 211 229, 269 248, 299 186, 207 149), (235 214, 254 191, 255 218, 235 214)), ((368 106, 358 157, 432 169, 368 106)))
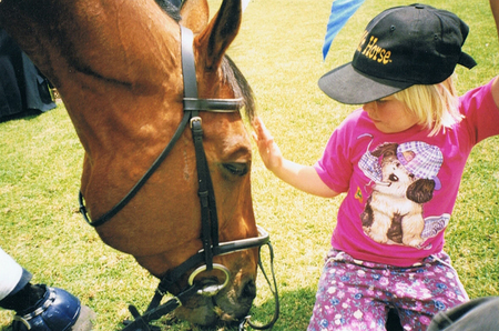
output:
POLYGON ((424 237, 424 203, 431 200, 442 163, 438 148, 414 141, 384 143, 367 151, 359 168, 373 182, 360 214, 364 232, 374 241, 418 248, 424 237))

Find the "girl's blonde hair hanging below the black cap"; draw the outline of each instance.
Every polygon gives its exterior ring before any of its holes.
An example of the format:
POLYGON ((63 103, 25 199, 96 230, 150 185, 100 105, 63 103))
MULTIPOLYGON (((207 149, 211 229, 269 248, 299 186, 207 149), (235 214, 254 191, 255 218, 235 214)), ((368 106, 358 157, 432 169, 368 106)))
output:
POLYGON ((459 112, 459 99, 452 77, 434 86, 413 86, 393 96, 406 104, 407 111, 414 113, 418 124, 431 130, 429 136, 440 129, 450 129, 459 123, 464 116, 459 112))

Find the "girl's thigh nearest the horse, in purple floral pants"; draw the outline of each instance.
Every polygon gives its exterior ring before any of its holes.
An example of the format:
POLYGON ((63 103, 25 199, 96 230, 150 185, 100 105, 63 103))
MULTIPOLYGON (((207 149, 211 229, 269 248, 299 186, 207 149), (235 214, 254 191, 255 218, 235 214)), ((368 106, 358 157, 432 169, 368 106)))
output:
POLYGON ((329 251, 307 330, 385 330, 384 293, 375 288, 368 268, 345 257, 329 251))

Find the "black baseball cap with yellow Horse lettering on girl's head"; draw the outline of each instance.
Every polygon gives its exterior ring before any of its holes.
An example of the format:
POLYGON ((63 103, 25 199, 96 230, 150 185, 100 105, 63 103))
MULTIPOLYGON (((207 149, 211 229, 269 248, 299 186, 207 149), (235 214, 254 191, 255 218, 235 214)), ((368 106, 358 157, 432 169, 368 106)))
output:
POLYGON ((427 4, 387 9, 367 26, 353 61, 324 74, 318 86, 339 102, 359 104, 440 83, 456 64, 477 64, 461 51, 468 31, 456 14, 427 4))

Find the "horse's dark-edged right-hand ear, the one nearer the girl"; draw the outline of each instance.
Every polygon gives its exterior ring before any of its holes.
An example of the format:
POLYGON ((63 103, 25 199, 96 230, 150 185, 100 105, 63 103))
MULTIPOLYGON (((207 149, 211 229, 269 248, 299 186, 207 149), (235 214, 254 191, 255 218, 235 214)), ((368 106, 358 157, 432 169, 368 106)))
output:
POLYGON ((231 42, 237 36, 241 26, 241 0, 224 0, 210 24, 196 37, 198 50, 205 50, 205 66, 215 69, 231 42))

